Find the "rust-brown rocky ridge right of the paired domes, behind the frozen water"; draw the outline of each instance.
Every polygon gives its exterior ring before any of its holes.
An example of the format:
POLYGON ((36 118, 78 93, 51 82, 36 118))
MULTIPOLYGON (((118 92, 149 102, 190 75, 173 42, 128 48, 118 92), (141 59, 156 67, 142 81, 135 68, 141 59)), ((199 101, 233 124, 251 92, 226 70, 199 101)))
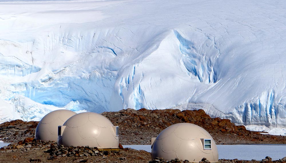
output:
POLYGON ((286 144, 286 136, 261 134, 235 126, 228 119, 210 118, 204 110, 126 109, 104 112, 114 125, 119 126, 121 144, 150 144, 152 137, 176 123, 193 123, 207 130, 216 144, 286 144))

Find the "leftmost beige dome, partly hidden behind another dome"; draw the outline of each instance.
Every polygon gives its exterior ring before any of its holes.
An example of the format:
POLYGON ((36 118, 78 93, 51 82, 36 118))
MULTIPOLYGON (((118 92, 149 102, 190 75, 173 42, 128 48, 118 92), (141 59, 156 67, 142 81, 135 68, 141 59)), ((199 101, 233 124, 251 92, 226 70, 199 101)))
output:
POLYGON ((45 115, 39 122, 35 132, 35 139, 42 141, 57 141, 57 126, 75 115, 76 112, 70 110, 55 110, 45 115))

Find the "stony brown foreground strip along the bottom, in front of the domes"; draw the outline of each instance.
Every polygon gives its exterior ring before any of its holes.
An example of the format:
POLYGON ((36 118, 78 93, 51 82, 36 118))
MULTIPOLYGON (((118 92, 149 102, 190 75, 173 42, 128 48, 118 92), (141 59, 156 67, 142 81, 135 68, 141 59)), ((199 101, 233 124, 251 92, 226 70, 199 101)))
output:
MULTIPOLYGON (((100 151, 97 148, 57 146, 56 142, 42 142, 33 138, 25 138, 18 143, 11 143, 0 149, 0 162, 2 163, 189 163, 188 160, 163 160, 155 158, 151 160, 149 152, 144 150, 134 150, 131 148, 120 148, 116 151, 100 151)), ((263 160, 219 160, 221 163, 280 163, 286 162, 286 157, 279 160, 272 160, 266 157, 263 160)), ((202 158, 200 163, 210 163, 206 158, 202 158)))

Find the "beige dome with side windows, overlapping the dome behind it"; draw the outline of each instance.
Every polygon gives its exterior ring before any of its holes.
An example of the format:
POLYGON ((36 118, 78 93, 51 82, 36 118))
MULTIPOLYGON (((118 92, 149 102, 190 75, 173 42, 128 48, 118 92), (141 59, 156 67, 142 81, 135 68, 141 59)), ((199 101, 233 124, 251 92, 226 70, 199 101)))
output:
POLYGON ((118 126, 94 112, 70 117, 58 128, 58 145, 118 148, 118 126))

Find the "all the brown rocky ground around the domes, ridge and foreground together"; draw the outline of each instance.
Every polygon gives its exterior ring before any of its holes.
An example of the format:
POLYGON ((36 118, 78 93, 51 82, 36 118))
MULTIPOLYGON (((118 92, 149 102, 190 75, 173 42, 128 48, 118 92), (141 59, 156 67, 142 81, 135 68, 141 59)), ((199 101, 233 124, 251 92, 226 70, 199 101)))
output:
MULTIPOLYGON (((206 129, 217 144, 286 144, 285 136, 273 136, 246 130, 235 126, 229 120, 210 118, 203 110, 133 110, 104 112, 114 125, 120 127, 121 144, 150 144, 166 127, 181 123, 193 123, 206 129)), ((168 162, 160 158, 151 160, 149 152, 122 148, 118 151, 98 151, 89 147, 64 148, 55 142, 41 142, 33 139, 38 122, 13 120, 0 124, 0 140, 15 142, 0 149, 0 162, 168 162)), ((286 154, 285 154, 286 156, 286 154)), ((170 160, 169 162, 187 162, 170 160)), ((286 157, 272 160, 219 160, 221 163, 286 162, 286 157)), ((207 163, 203 159, 202 163, 207 163)))

